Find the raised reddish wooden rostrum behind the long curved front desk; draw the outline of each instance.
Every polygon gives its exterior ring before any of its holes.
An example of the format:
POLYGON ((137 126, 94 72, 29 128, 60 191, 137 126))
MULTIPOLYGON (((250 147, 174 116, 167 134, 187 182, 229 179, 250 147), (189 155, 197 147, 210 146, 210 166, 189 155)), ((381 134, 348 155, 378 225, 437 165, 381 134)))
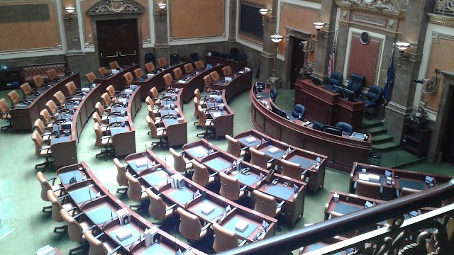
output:
POLYGON ((316 86, 310 79, 297 79, 295 101, 306 107, 306 117, 325 125, 336 125, 338 122, 350 123, 354 131, 361 130, 365 106, 362 101, 348 102, 343 95, 316 86))

